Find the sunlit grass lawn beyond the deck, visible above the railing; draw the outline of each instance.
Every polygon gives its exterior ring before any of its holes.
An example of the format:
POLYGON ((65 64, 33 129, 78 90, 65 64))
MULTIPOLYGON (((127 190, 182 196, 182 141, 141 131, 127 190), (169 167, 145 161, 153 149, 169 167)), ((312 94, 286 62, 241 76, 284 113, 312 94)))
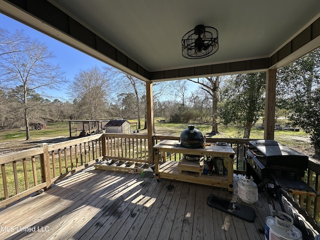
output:
MULTIPOLYGON (((129 122, 137 122, 136 119, 129 120, 129 122)), ((192 124, 192 123, 191 123, 192 124)), ((141 120, 141 126, 144 126, 144 119, 141 120)), ((195 128, 199 129, 202 134, 211 131, 211 125, 207 123, 197 124, 194 123, 195 128)), ((188 127, 187 123, 168 123, 168 122, 158 122, 154 121, 154 128, 156 135, 174 135, 179 136, 181 131, 188 127)), ((82 129, 81 124, 72 123, 72 131, 75 130, 77 133, 73 132, 72 136, 78 135, 82 129)), ((131 128, 135 130, 135 124, 131 124, 131 128)), ((225 126, 218 125, 219 134, 212 136, 212 138, 241 138, 243 136, 243 129, 235 126, 225 126)), ((146 129, 139 131, 140 133, 146 134, 146 129)), ((69 124, 65 122, 53 122, 47 123, 46 129, 41 130, 30 130, 30 136, 32 139, 42 138, 42 137, 68 137, 69 136, 69 124)), ((263 129, 259 127, 253 127, 251 129, 250 138, 260 138, 263 139, 263 129)), ((313 147, 310 145, 309 135, 304 131, 289 131, 289 130, 274 130, 274 139, 288 145, 294 149, 297 149, 309 156, 314 153, 313 147)), ((23 141, 25 140, 25 130, 18 128, 15 129, 5 129, 0 130, 0 142, 10 142, 10 141, 23 141)), ((23 141, 24 142, 24 141, 23 141)), ((2 147, 2 149, 4 149, 2 147)))

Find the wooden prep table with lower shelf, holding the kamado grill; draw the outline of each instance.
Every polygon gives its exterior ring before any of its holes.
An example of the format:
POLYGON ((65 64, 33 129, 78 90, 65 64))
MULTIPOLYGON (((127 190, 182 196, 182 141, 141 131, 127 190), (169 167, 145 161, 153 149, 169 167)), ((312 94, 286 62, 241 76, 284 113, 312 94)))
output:
POLYGON ((233 191, 233 156, 235 152, 229 144, 218 145, 210 143, 210 146, 206 146, 204 148, 185 148, 181 146, 175 146, 174 143, 178 143, 178 141, 162 140, 153 146, 155 156, 155 178, 157 179, 157 181, 159 181, 160 178, 167 178, 204 185, 224 187, 229 191, 233 191), (201 156, 225 157, 228 159, 227 175, 199 175, 195 172, 180 172, 178 169, 178 161, 164 160, 161 164, 159 164, 162 157, 162 152, 164 154, 165 152, 173 152, 201 156))

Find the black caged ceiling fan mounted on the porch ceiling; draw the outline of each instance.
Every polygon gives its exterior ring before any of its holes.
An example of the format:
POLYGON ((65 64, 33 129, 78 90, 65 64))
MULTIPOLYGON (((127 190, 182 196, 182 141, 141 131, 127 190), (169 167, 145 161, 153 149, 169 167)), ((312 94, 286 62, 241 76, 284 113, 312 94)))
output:
POLYGON ((181 39, 182 56, 190 59, 212 55, 219 48, 218 30, 211 26, 197 25, 181 39))

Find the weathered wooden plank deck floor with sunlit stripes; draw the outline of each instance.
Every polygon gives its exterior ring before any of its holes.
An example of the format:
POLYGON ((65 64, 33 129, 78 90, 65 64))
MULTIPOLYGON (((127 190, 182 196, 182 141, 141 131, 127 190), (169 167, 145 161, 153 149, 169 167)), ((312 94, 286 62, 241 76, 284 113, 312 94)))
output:
POLYGON ((253 223, 209 207, 210 194, 235 198, 217 187, 89 167, 1 209, 0 239, 264 239, 263 194, 249 204, 253 223))

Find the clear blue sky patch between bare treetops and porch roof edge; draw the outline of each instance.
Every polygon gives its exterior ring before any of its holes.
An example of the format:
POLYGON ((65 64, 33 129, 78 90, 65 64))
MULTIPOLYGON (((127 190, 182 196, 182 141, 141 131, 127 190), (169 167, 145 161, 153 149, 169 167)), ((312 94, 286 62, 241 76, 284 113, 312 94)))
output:
POLYGON ((62 42, 59 42, 52 37, 49 37, 31 27, 24 25, 6 15, 0 13, 0 28, 14 32, 16 29, 23 29, 25 35, 31 38, 37 38, 43 42, 50 51, 55 55, 50 61, 52 64, 59 64, 62 71, 65 72, 67 82, 61 86, 59 90, 52 90, 49 94, 52 99, 67 100, 68 82, 73 80, 73 77, 80 70, 85 70, 93 66, 103 66, 105 63, 86 55, 62 42))

